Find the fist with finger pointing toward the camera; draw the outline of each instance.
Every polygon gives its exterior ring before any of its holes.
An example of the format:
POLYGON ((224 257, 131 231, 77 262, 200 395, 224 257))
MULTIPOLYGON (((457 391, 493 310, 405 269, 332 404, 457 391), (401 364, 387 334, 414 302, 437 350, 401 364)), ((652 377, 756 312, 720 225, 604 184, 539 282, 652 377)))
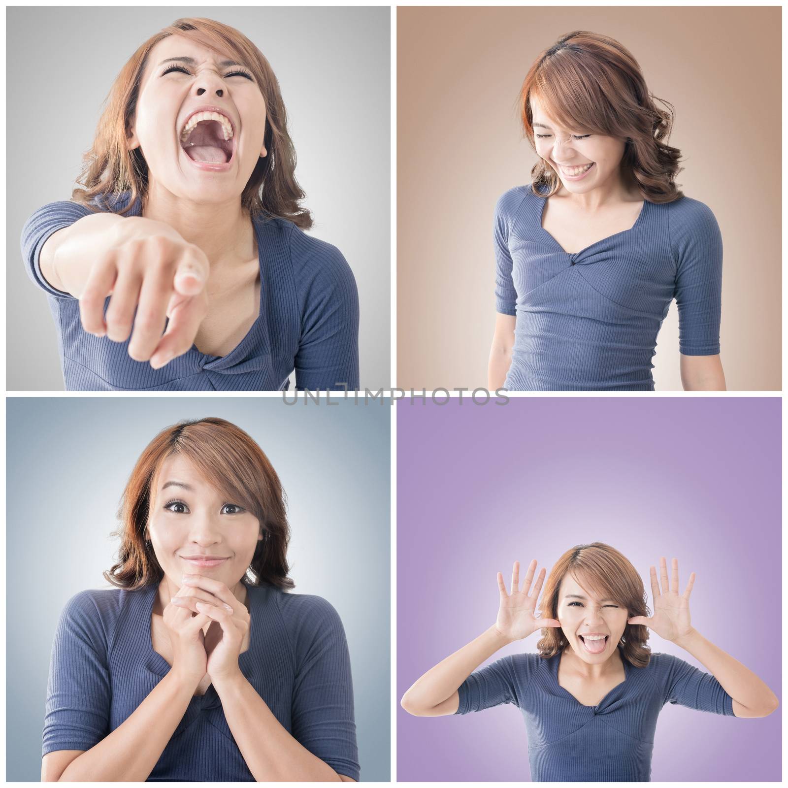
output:
POLYGON ((85 331, 125 342, 133 324, 128 355, 135 361, 150 360, 158 369, 191 348, 208 312, 208 258, 163 221, 125 217, 102 228, 90 237, 88 249, 84 236, 61 244, 55 261, 58 277, 67 292, 80 299, 85 331), (93 260, 81 283, 84 271, 64 264, 78 255, 93 260), (74 281, 69 281, 69 273, 74 281))

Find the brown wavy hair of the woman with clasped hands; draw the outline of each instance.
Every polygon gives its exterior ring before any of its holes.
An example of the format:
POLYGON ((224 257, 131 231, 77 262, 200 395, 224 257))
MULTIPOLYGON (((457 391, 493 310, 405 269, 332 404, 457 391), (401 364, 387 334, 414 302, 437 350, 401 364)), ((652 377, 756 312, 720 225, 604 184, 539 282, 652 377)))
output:
POLYGON ((223 418, 200 418, 162 429, 139 456, 121 499, 118 561, 104 578, 118 588, 138 589, 164 577, 153 545, 146 541, 151 488, 162 463, 179 454, 188 459, 215 489, 237 500, 260 521, 263 538, 247 569, 247 585, 269 582, 292 589, 287 551, 290 526, 281 482, 262 449, 243 429, 223 418))

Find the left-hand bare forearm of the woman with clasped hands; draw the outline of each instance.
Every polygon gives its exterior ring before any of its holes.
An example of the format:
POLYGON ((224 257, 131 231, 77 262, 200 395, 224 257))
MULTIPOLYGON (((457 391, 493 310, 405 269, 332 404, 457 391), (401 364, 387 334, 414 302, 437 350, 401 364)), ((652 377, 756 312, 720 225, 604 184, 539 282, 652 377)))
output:
POLYGON ((145 782, 183 719, 194 690, 170 671, 120 727, 72 760, 60 782, 145 782))

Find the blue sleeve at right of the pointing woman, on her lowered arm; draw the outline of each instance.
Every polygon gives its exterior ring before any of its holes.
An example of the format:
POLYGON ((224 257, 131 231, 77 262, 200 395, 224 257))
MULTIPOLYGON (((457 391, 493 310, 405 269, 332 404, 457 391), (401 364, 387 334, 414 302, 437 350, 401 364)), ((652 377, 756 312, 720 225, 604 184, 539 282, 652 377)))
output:
POLYGON ((296 390, 359 388, 359 291, 348 261, 297 228, 291 255, 301 307, 296 390))

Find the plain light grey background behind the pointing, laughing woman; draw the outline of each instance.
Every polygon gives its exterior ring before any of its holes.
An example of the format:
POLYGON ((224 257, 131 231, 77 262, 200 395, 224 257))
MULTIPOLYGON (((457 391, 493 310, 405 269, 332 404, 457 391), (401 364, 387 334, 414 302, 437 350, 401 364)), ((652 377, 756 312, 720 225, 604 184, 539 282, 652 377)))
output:
POLYGON ((390 9, 9 8, 7 91, 7 387, 63 389, 54 321, 20 256, 24 221, 70 199, 102 102, 137 47, 180 17, 240 30, 281 85, 296 177, 359 286, 361 388, 390 385, 390 9))

